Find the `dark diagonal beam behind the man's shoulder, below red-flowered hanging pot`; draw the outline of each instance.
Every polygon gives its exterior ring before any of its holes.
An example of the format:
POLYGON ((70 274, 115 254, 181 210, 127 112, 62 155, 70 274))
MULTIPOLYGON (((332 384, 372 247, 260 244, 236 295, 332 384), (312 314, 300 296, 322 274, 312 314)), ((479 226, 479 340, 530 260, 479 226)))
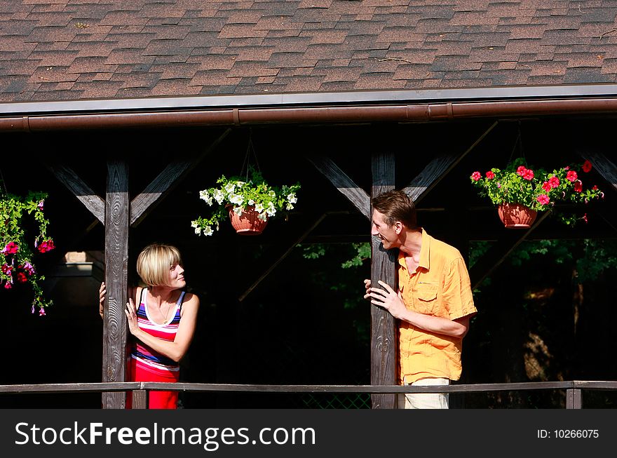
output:
MULTIPOLYGON (((538 215, 536 222, 527 230, 521 229, 503 229, 503 237, 499 239, 484 255, 471 266, 469 277, 471 279, 471 288, 477 288, 484 278, 487 278, 499 265, 506 260, 506 257, 522 243, 533 232, 550 212, 543 212, 538 215)), ((497 210, 495 210, 495 217, 497 210)))

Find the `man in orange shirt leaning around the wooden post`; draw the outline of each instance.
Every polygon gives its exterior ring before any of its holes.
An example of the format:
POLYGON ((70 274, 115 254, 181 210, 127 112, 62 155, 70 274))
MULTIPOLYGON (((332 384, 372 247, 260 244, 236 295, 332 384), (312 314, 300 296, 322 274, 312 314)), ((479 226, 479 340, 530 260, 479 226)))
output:
MULTIPOLYGON (((447 385, 461 377, 463 337, 477 313, 459 250, 429 236, 416 224, 414 202, 403 191, 372 199, 371 235, 386 250, 399 249, 398 291, 365 280, 365 298, 399 321, 400 383, 447 385)), ((447 409, 447 393, 409 393, 399 407, 447 409)))

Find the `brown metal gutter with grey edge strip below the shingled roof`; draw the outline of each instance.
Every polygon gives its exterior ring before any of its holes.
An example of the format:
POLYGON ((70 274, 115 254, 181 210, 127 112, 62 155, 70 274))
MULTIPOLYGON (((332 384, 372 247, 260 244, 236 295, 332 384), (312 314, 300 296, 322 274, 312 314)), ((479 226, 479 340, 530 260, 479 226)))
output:
POLYGON ((0 131, 600 113, 617 113, 617 85, 5 103, 0 131))

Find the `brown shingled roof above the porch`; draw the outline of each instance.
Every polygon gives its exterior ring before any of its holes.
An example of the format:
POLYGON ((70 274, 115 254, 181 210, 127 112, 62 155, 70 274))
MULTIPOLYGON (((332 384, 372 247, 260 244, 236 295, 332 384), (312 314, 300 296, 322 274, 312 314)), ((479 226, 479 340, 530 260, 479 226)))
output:
POLYGON ((617 81, 617 1, 4 0, 0 102, 617 81))

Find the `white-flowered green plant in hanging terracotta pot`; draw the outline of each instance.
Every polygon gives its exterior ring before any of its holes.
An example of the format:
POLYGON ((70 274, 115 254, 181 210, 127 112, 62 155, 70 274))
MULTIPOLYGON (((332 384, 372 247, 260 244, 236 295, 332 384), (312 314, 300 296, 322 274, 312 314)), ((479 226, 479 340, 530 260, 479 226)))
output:
POLYGON ((248 167, 250 179, 244 181, 244 177, 226 177, 222 175, 218 180, 218 187, 211 187, 199 191, 201 198, 208 206, 215 206, 215 211, 210 217, 198 217, 191 221, 191 227, 195 234, 211 236, 219 230, 221 220, 229 216, 229 206, 240 215, 243 209, 255 207, 259 218, 266 220, 274 217, 277 212, 285 213, 294 208, 297 202, 296 193, 300 189, 300 183, 282 187, 271 186, 264 180, 262 173, 254 167, 248 167))

